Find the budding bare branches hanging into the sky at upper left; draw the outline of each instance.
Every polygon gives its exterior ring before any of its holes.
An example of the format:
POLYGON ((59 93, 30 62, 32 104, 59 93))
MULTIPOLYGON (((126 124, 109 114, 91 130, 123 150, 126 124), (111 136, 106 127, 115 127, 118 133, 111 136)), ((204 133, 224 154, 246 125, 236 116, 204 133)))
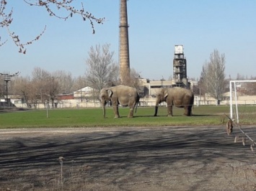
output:
MULTIPOLYGON (((8 1, 11 0, 1 0, 0 1, 0 27, 6 28, 7 32, 9 34, 9 37, 11 37, 12 41, 14 42, 17 47, 19 47, 19 52, 22 52, 23 54, 26 53, 25 47, 27 45, 32 44, 32 42, 35 42, 38 40, 43 33, 45 32, 46 26, 43 29, 43 32, 41 32, 37 37, 34 39, 28 41, 28 42, 21 42, 20 37, 15 32, 12 32, 10 29, 10 25, 12 24, 13 17, 13 9, 10 11, 6 10, 6 5, 8 4, 8 1)), ((74 14, 80 15, 81 19, 83 21, 89 20, 91 26, 92 26, 92 33, 94 34, 94 22, 102 24, 105 20, 105 18, 97 18, 94 17, 91 13, 84 10, 84 5, 81 2, 81 7, 76 8, 73 6, 74 0, 23 0, 25 3, 27 3, 29 6, 40 6, 44 8, 46 11, 48 11, 48 14, 50 17, 57 17, 58 19, 70 19, 73 17, 74 14), (61 15, 63 11, 66 12, 66 15, 61 15)), ((32 8, 31 8, 32 9, 32 8)), ((4 42, 1 42, 1 35, 0 35, 0 47, 6 43, 7 39, 4 40, 4 42)))

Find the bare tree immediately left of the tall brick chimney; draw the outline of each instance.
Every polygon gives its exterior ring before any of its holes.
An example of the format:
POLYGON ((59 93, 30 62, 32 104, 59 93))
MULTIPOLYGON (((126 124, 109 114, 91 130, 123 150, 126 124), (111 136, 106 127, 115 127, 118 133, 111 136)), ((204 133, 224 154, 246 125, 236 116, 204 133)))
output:
POLYGON ((110 52, 110 45, 91 47, 88 55, 86 78, 92 88, 100 91, 115 85, 118 81, 118 65, 113 60, 114 52, 110 52))

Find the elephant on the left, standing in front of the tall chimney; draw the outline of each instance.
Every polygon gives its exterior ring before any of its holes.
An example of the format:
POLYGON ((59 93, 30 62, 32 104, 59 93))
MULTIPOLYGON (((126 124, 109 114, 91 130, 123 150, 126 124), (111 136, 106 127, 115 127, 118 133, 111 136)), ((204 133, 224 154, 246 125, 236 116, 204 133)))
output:
POLYGON ((140 99, 136 88, 131 88, 126 85, 118 85, 111 88, 103 88, 100 90, 100 99, 102 102, 103 116, 105 118, 106 111, 105 106, 107 101, 112 102, 112 106, 115 112, 115 118, 119 118, 118 105, 128 106, 130 112, 128 117, 133 117, 133 110, 135 106, 138 106, 138 101, 140 99))

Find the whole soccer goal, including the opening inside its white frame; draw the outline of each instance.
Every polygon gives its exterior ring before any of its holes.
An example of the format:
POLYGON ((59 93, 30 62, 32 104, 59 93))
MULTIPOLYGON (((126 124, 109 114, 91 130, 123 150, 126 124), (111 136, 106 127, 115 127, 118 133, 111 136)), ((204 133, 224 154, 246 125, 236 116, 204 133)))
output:
POLYGON ((237 124, 256 124, 256 80, 230 80, 230 118, 237 124))

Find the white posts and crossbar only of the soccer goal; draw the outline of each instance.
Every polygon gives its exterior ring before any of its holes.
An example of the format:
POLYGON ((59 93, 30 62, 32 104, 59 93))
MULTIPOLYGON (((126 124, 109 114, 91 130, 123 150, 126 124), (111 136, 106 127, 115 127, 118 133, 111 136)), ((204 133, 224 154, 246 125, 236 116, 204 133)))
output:
POLYGON ((233 110, 232 110, 232 84, 234 84, 234 101, 236 106, 237 114, 237 124, 239 124, 238 108, 237 108, 237 85, 236 83, 256 83, 256 80, 230 80, 229 81, 229 105, 230 105, 230 118, 233 120, 233 110))

